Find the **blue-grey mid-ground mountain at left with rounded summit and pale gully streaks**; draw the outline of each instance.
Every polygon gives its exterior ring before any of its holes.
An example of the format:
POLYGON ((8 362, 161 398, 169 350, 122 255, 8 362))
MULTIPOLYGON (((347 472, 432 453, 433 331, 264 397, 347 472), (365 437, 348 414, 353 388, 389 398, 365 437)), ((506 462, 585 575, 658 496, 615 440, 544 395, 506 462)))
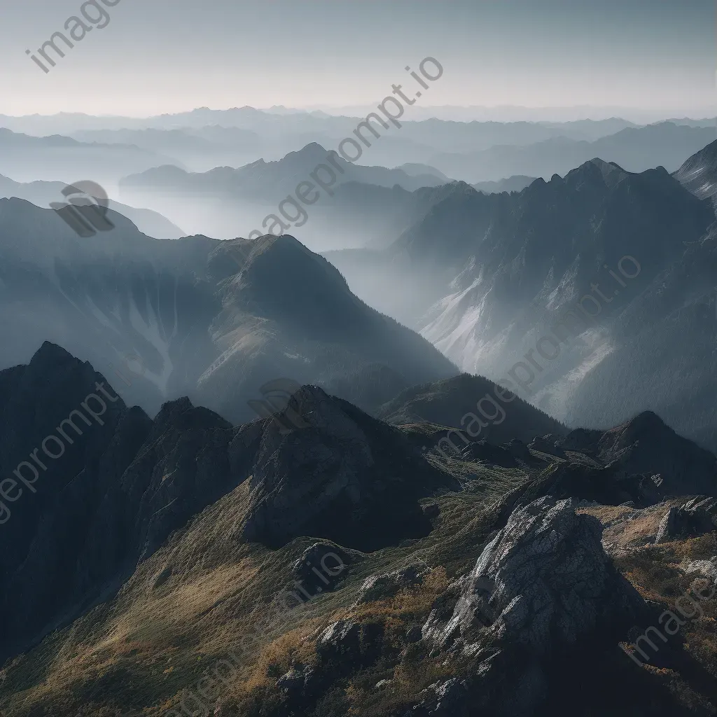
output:
POLYGON ((49 209, 0 200, 4 366, 49 339, 148 412, 189 395, 237 422, 256 417, 247 401, 275 379, 373 410, 457 373, 292 237, 160 241, 108 217, 115 229, 84 239, 49 209))

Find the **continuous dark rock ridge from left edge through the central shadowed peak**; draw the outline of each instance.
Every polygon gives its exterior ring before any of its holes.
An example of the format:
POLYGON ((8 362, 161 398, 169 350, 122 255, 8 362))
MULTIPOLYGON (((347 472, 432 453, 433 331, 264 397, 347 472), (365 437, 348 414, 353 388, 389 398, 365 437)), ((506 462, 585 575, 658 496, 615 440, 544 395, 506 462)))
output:
POLYGON ((0 604, 18 618, 0 662, 111 594, 247 478, 247 539, 283 544, 313 531, 371 549, 427 534, 417 500, 460 488, 397 429, 317 387, 286 407, 300 417, 292 430, 286 414, 233 428, 186 398, 151 421, 92 366, 44 343, 27 366, 0 371, 0 395, 0 473, 17 478, 1 504, 15 549, 0 562, 0 604))

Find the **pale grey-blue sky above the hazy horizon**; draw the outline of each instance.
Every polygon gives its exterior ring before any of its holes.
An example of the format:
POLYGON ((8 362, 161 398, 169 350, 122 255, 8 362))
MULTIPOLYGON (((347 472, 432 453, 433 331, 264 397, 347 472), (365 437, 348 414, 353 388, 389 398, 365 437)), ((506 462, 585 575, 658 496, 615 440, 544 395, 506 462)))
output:
POLYGON ((25 51, 81 0, 3 0, 0 113, 375 103, 427 55, 424 105, 715 103, 713 0, 111 1, 46 75, 25 51))

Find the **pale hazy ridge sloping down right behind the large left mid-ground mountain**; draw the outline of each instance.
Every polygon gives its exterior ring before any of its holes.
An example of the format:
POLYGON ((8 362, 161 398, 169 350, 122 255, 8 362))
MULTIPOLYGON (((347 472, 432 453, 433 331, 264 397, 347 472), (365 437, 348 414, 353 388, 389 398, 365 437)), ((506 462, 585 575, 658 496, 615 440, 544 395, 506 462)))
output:
MULTIPOLYGON (((12 181, 7 177, 0 176, 0 198, 9 199, 14 196, 18 199, 31 201, 36 206, 50 206, 50 202, 65 201, 62 194, 65 186, 67 186, 67 182, 59 181, 33 181, 22 184, 22 182, 12 181)), ((155 237, 156 239, 186 237, 186 232, 183 232, 179 227, 175 227, 168 219, 151 209, 137 209, 134 206, 120 204, 118 201, 112 201, 111 199, 108 200, 108 207, 114 212, 127 217, 148 237, 155 237)))

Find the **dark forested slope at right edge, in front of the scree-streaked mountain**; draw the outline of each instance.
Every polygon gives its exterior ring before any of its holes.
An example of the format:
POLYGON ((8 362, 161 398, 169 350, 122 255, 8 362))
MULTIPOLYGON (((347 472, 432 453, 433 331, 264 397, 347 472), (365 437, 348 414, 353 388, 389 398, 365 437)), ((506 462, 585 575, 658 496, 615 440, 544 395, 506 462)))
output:
POLYGON ((717 234, 685 248, 617 315, 613 350, 576 386, 567 419, 604 425, 652 409, 713 449, 717 391, 717 234), (605 391, 615 397, 608 411, 605 391), (578 407, 582 407, 579 411, 578 407))

